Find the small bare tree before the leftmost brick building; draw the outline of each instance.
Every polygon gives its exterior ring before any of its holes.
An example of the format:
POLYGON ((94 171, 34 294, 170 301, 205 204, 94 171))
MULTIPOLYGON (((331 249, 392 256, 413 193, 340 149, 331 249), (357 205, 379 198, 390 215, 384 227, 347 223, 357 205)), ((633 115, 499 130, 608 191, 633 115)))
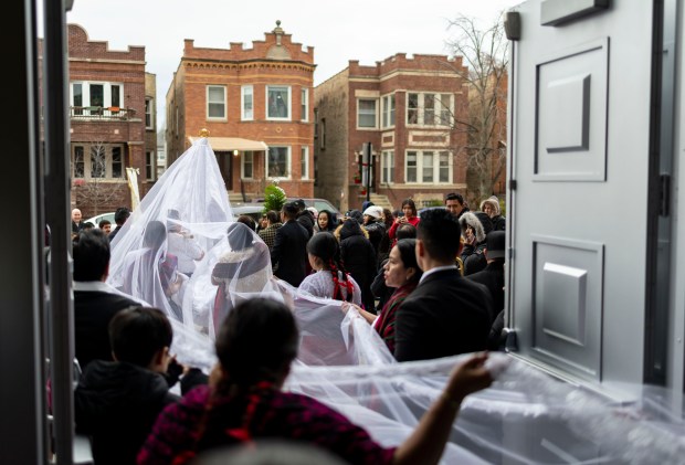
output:
POLYGON ((108 205, 117 197, 118 192, 116 184, 105 182, 107 177, 113 176, 107 170, 110 163, 105 142, 92 142, 87 158, 75 160, 75 162, 77 163, 75 177, 84 178, 74 180, 76 204, 92 214, 98 214, 105 208, 110 209, 108 205), (85 177, 86 172, 89 175, 87 178, 85 177))

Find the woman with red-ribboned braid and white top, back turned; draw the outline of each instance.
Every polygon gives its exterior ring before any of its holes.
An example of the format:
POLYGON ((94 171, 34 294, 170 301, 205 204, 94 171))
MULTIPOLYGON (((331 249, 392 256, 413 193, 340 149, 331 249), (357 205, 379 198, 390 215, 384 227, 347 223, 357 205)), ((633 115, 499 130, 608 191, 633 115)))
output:
POLYGON ((315 273, 305 277, 299 285, 299 290, 316 297, 328 297, 361 305, 359 285, 345 270, 340 261, 338 241, 331 233, 314 234, 307 243, 307 255, 315 273))

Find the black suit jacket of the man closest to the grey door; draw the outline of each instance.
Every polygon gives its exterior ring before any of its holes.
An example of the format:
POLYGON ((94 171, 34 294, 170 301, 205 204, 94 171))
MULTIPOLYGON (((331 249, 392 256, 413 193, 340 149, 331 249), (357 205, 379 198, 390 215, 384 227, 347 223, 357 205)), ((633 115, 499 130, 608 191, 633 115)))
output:
POLYGON ((394 321, 394 358, 426 360, 485 350, 493 302, 485 286, 456 268, 431 273, 407 297, 394 321))

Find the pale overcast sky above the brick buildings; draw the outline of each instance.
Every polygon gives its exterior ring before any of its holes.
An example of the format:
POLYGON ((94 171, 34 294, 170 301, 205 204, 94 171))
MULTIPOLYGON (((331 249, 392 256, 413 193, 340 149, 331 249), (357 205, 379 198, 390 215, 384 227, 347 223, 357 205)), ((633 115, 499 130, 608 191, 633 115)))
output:
MULTIPOLYGON (((359 60, 373 65, 396 53, 450 54, 450 20, 459 14, 491 24, 523 0, 74 0, 68 23, 112 50, 144 45, 147 72, 157 75, 158 120, 183 40, 198 47, 251 43, 281 27, 294 42, 314 46, 317 85, 359 60)), ((159 128, 160 129, 160 128, 159 128)))

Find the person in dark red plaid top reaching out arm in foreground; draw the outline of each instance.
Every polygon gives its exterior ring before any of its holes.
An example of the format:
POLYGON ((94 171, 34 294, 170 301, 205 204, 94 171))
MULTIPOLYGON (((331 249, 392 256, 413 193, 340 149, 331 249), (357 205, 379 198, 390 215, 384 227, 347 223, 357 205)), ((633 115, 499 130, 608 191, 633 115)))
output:
POLYGON ((397 448, 383 447, 329 406, 282 391, 298 340, 284 304, 265 298, 239 304, 217 337, 219 364, 210 387, 165 409, 138 463, 182 465, 203 451, 268 437, 313 444, 352 464, 436 464, 463 399, 492 382, 483 366, 487 356, 471 357, 455 368, 413 433, 397 448))

